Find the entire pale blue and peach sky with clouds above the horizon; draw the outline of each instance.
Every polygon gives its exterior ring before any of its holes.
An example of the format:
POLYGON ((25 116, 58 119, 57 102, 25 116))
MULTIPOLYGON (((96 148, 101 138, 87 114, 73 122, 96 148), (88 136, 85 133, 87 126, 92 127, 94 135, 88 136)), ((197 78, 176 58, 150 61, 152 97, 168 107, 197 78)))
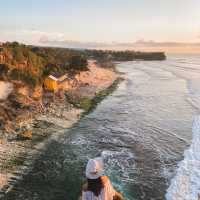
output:
POLYGON ((0 41, 200 50, 200 0, 0 0, 0 8, 0 41))

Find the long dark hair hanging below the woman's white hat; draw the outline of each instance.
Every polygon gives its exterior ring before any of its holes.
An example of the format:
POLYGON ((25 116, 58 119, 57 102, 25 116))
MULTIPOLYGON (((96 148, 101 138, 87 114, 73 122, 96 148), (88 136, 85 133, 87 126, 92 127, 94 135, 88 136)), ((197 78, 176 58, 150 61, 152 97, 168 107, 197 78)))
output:
POLYGON ((95 196, 99 196, 101 189, 104 187, 101 177, 97 179, 87 179, 87 190, 94 193, 95 196))

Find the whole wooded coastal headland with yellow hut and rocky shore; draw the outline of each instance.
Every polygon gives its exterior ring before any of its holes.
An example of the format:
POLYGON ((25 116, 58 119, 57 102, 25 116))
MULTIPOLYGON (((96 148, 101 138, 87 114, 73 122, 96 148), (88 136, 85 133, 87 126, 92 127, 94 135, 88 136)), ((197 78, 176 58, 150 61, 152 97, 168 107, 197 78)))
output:
POLYGON ((0 190, 9 191, 53 137, 66 134, 122 80, 113 61, 165 54, 0 47, 0 190))

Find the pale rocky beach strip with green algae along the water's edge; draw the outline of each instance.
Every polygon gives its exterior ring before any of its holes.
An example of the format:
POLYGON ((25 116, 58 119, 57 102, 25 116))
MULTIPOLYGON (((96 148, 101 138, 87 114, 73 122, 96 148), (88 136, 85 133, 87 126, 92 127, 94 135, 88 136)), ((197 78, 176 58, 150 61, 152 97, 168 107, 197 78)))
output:
POLYGON ((95 109, 106 96, 114 92, 122 81, 122 77, 116 70, 104 69, 100 66, 98 68, 102 73, 108 71, 112 73, 109 74, 108 80, 96 81, 95 87, 91 85, 91 82, 86 86, 87 88, 81 86, 72 91, 73 94, 83 93, 78 103, 72 104, 72 102, 69 103, 70 101, 53 103, 44 113, 39 113, 25 122, 32 133, 31 139, 0 140, 0 197, 11 190, 17 180, 31 169, 34 160, 52 139, 66 134, 68 129, 95 109))

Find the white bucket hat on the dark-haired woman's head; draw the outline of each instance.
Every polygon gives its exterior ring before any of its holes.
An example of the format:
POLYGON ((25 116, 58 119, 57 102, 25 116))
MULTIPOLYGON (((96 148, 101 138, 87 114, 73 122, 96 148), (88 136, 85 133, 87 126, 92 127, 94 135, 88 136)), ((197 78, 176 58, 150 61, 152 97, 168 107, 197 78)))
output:
POLYGON ((89 179, 97 179, 103 175, 103 160, 102 158, 90 159, 86 166, 86 177, 89 179))

